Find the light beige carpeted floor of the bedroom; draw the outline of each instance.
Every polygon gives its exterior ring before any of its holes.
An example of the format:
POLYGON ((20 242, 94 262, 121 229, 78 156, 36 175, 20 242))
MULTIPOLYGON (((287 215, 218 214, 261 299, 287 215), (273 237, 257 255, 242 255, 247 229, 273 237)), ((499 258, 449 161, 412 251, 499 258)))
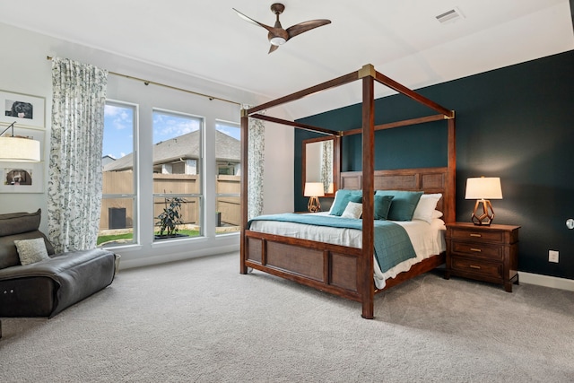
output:
POLYGON ((1 382, 570 382, 574 293, 424 274, 357 302, 239 254, 122 270, 57 317, 3 318, 1 382))

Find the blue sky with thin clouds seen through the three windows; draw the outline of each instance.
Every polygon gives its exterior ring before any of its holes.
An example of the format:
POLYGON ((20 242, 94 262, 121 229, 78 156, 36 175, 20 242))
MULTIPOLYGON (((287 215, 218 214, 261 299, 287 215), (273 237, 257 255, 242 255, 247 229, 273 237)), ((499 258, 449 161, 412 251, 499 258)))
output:
MULTIPOLYGON (((119 159, 134 151, 134 111, 129 106, 106 104, 102 156, 119 159)), ((186 115, 153 111, 153 144, 199 129, 201 120, 186 115)), ((239 126, 216 124, 216 129, 239 140, 239 126)))

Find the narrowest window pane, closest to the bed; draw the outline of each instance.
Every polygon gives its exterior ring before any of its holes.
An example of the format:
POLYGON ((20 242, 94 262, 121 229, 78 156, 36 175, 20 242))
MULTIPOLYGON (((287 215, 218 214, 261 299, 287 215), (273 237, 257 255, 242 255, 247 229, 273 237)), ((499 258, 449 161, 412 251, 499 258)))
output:
POLYGON ((217 121, 215 124, 215 161, 217 177, 216 233, 224 234, 239 231, 240 209, 240 169, 241 169, 241 129, 238 124, 217 121))

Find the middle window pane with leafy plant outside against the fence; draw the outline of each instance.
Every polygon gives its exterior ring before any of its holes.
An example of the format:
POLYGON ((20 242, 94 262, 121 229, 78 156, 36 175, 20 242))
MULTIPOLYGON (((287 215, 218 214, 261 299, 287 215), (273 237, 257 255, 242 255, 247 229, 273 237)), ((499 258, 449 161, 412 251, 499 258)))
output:
POLYGON ((203 235, 203 118, 154 109, 155 240, 203 235))

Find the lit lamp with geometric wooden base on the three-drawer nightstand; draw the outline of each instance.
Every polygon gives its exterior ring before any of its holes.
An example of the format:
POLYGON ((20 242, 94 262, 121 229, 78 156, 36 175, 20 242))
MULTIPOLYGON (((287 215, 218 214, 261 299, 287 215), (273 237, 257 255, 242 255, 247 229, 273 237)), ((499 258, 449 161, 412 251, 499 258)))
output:
POLYGON ((475 225, 490 225, 494 219, 491 199, 502 199, 502 187, 498 177, 477 177, 466 179, 465 199, 475 199, 472 222, 475 225), (479 210, 482 205, 482 212, 479 210))

